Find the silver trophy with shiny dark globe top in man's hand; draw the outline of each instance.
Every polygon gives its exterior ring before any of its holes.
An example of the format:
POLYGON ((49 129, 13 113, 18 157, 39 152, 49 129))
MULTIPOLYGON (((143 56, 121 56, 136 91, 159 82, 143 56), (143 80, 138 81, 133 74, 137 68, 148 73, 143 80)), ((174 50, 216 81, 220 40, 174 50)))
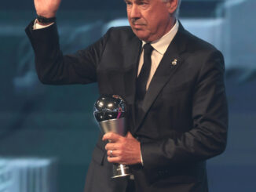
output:
MULTIPOLYGON (((115 132, 121 136, 126 136, 126 103, 121 96, 101 96, 94 104, 93 114, 100 125, 101 132, 115 132)), ((113 164, 112 178, 121 176, 130 176, 129 167, 113 164)))

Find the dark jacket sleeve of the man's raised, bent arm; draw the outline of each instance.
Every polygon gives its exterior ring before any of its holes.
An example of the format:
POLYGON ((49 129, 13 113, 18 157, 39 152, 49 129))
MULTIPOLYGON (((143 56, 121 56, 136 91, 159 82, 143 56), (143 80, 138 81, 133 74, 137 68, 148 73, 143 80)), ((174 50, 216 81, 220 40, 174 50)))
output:
POLYGON ((35 67, 44 84, 86 84, 97 81, 97 64, 101 60, 108 33, 87 49, 64 56, 60 51, 57 24, 33 30, 34 21, 26 33, 35 52, 35 67))

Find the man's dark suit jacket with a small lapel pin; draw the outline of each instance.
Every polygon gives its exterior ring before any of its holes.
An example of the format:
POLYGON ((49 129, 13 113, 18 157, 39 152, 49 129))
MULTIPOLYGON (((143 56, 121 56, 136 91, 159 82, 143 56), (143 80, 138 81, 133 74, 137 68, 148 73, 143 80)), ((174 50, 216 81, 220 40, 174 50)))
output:
MULTIPOLYGON (((134 100, 141 41, 130 27, 111 28, 74 55, 60 52, 57 25, 27 35, 35 50, 38 78, 46 84, 98 82, 101 94, 119 94, 128 104, 128 127, 141 142, 144 165, 133 165, 137 191, 207 191, 206 160, 225 150, 228 110, 224 60, 214 46, 181 26, 155 71, 135 123, 134 100), (176 64, 172 61, 177 60, 176 64)), ((93 151, 86 191, 126 188, 111 179, 101 136, 93 151)))

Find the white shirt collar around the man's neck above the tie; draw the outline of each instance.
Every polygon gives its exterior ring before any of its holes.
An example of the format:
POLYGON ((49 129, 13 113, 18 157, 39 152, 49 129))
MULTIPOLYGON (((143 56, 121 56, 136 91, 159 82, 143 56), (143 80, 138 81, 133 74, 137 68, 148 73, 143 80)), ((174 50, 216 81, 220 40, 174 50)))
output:
MULTIPOLYGON (((166 52, 166 49, 170 45, 170 42, 173 41, 175 35, 177 34, 177 30, 179 28, 179 22, 176 20, 176 23, 174 24, 174 27, 170 29, 170 31, 163 35, 162 38, 159 38, 158 40, 151 42, 150 45, 160 54, 164 54, 166 52)), ((142 41, 142 47, 147 42, 142 41)))

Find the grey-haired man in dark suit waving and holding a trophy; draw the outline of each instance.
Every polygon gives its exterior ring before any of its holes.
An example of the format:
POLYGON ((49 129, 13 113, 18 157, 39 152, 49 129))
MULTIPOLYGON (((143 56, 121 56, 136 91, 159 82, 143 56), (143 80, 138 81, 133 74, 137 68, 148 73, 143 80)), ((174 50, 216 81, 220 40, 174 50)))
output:
POLYGON ((98 82, 101 94, 126 99, 130 132, 99 137, 86 191, 205 192, 206 160, 221 154, 227 139, 223 56, 185 31, 175 16, 180 1, 125 2, 130 27, 113 27, 87 49, 63 56, 51 23, 60 0, 35 0, 40 17, 26 32, 38 78, 98 82), (111 179, 112 163, 130 165, 133 176, 111 179))

